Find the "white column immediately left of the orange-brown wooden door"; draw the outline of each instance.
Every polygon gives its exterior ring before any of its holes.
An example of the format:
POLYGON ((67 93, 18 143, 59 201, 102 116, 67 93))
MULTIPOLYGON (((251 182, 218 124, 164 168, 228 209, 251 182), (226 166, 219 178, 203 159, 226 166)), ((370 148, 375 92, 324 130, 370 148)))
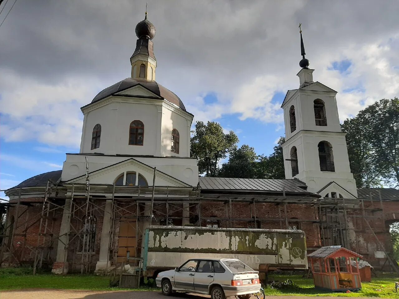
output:
POLYGON ((101 230, 100 255, 96 264, 95 273, 103 272, 111 266, 109 260, 109 238, 111 232, 112 200, 105 201, 103 229, 101 230))

